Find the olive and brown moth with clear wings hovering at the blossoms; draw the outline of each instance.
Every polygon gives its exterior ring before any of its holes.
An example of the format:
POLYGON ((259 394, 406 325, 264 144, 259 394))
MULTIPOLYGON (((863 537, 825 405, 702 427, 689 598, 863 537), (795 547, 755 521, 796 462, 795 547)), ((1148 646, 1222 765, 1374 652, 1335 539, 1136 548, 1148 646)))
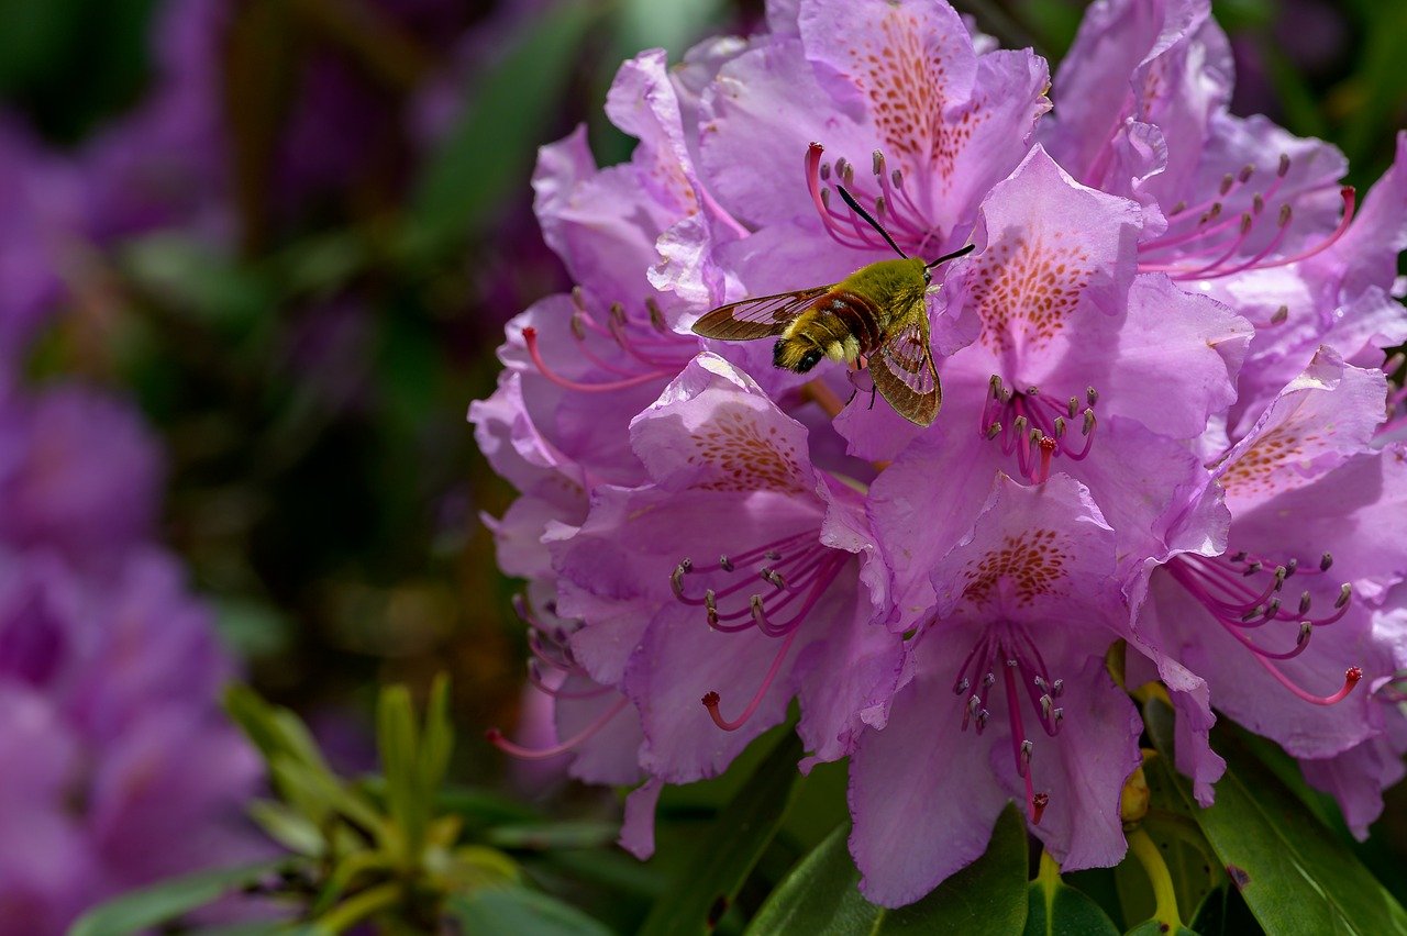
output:
POLYGON ((720 305, 694 323, 694 333, 722 342, 778 336, 772 364, 798 374, 825 357, 868 367, 875 389, 896 413, 929 426, 943 405, 943 389, 929 347, 924 294, 933 267, 965 256, 974 245, 931 263, 909 257, 848 191, 836 188, 900 259, 860 267, 830 285, 720 305))

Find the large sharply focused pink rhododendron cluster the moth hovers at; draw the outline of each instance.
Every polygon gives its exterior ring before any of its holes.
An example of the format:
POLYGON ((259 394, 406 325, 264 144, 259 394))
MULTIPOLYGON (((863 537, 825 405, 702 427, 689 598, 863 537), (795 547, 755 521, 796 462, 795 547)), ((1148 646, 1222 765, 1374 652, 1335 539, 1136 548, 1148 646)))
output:
POLYGON ((1161 680, 1203 804, 1217 710, 1366 835, 1407 743, 1375 691, 1407 663, 1407 135, 1359 209, 1231 83, 1203 0, 1095 3, 1054 77, 940 0, 778 0, 628 62, 632 160, 578 131, 535 177, 577 287, 509 323, 470 409, 522 492, 488 523, 560 743, 495 741, 639 784, 647 854, 661 784, 795 700, 801 769, 850 758, 861 890, 902 905, 1009 800, 1065 869, 1116 864, 1128 691, 1161 680), (929 292, 931 427, 689 329, 892 256, 837 186, 910 256, 975 246, 929 292))

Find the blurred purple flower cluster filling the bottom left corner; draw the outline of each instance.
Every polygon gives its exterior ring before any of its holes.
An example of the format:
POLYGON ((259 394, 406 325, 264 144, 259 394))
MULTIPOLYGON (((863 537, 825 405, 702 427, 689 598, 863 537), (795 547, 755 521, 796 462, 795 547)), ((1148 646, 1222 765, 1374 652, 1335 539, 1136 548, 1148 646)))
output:
POLYGON ((241 815, 259 762, 219 714, 229 663, 180 579, 141 548, 104 580, 0 551, 0 932, 262 853, 241 815))

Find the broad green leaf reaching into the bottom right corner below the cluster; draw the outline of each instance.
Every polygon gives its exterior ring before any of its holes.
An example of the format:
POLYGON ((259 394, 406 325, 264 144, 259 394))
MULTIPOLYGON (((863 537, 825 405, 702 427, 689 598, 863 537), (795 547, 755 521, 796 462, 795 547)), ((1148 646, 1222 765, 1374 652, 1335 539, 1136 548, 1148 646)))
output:
POLYGON ((1144 724, 1164 755, 1154 769, 1176 784, 1266 932, 1407 933, 1401 905, 1235 734, 1221 728, 1213 734, 1227 772, 1217 783, 1216 804, 1197 810, 1188 780, 1169 766, 1172 710, 1154 700, 1144 708, 1144 724))

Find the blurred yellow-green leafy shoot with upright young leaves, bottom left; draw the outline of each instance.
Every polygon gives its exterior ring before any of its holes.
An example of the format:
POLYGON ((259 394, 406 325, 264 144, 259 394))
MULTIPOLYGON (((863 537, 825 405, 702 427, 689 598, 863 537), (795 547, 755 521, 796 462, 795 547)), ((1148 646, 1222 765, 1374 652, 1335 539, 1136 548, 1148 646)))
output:
POLYGON ((494 795, 442 793, 454 748, 443 676, 432 683, 422 718, 404 686, 381 690, 381 776, 363 780, 336 776, 287 708, 242 686, 227 691, 225 708, 263 756, 277 794, 252 804, 250 815, 290 856, 135 891, 89 914, 80 933, 144 930, 235 888, 291 906, 293 916, 265 926, 267 932, 321 936, 363 923, 432 932, 449 919, 484 928, 471 932, 529 925, 532 932, 605 932, 581 911, 523 887, 522 867, 504 849, 599 846, 613 828, 533 824, 530 810, 494 795))

